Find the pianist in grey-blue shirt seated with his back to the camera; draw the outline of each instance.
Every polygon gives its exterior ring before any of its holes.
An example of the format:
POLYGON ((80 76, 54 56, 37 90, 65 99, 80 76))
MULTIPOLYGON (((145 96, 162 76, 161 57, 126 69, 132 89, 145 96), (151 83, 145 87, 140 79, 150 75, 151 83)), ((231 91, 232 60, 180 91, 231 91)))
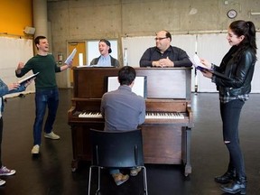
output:
MULTIPOLYGON (((132 92, 136 72, 133 67, 125 66, 118 71, 119 88, 107 92, 101 100, 100 111, 105 118, 105 131, 129 131, 137 129, 145 120, 144 98, 132 92)), ((130 170, 131 176, 136 176, 141 169, 130 170)), ((128 174, 122 174, 118 169, 109 171, 116 185, 121 185, 129 179, 128 174)))

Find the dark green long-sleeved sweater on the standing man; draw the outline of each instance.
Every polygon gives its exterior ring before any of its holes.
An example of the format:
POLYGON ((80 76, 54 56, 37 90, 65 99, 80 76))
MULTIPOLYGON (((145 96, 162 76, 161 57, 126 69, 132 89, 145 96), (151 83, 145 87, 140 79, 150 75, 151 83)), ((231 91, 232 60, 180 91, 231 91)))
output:
POLYGON ((33 74, 40 72, 34 80, 36 89, 57 88, 55 73, 60 72, 60 67, 57 66, 53 55, 37 54, 27 61, 20 74, 16 73, 16 77, 21 78, 30 70, 33 74))

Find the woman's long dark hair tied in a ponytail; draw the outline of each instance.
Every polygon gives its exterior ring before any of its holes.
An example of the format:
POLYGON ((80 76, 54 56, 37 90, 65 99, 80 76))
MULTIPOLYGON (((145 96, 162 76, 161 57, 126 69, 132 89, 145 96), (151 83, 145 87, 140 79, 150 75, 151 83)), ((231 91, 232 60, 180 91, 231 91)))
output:
POLYGON ((234 32, 237 36, 244 35, 245 38, 242 42, 239 43, 239 50, 243 51, 247 47, 253 49, 256 54, 256 42, 255 42, 255 24, 251 21, 237 20, 233 23, 230 23, 229 29, 234 32), (241 45, 241 46, 240 46, 241 45))

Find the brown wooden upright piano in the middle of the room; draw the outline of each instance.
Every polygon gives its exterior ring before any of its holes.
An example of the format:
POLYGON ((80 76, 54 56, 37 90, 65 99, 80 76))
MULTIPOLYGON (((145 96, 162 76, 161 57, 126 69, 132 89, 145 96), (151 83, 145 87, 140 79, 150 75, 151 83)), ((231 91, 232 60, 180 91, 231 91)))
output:
MULTIPOLYGON (((104 129, 100 103, 107 92, 107 77, 117 68, 73 68, 74 91, 68 111, 71 126, 72 172, 79 161, 90 161, 89 129, 104 129)), ((190 106, 191 68, 135 68, 147 81, 146 116, 141 125, 144 163, 182 164, 191 173, 190 134, 193 114, 190 106)))

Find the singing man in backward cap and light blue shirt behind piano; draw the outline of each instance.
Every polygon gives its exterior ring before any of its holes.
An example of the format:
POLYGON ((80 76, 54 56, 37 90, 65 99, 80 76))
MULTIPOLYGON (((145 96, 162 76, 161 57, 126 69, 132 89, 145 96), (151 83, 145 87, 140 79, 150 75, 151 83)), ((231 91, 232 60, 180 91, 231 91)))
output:
POLYGON ((101 39, 98 42, 98 50, 100 56, 91 60, 90 65, 98 65, 98 67, 119 67, 119 61, 113 58, 109 53, 112 52, 111 43, 106 39, 101 39))

